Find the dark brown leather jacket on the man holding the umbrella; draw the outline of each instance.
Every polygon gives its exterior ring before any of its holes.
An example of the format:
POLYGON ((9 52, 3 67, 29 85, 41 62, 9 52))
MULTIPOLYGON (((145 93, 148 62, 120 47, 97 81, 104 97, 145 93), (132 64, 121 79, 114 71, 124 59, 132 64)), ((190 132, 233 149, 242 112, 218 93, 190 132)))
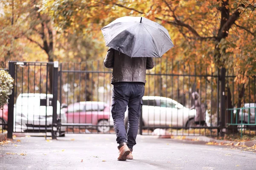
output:
POLYGON ((146 82, 146 69, 154 68, 151 57, 129 57, 109 48, 104 59, 106 68, 113 68, 111 84, 115 82, 146 82))

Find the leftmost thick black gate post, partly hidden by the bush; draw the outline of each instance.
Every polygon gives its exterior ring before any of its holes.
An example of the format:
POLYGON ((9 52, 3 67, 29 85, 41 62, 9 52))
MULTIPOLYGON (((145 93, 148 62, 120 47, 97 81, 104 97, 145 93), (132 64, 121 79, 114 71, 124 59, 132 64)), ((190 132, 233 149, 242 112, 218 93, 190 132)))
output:
MULTIPOLYGON (((15 65, 14 62, 9 61, 9 74, 15 79, 15 65)), ((14 88, 12 88, 12 94, 9 96, 8 99, 8 121, 7 121, 7 138, 12 139, 13 133, 13 114, 14 114, 14 88)))

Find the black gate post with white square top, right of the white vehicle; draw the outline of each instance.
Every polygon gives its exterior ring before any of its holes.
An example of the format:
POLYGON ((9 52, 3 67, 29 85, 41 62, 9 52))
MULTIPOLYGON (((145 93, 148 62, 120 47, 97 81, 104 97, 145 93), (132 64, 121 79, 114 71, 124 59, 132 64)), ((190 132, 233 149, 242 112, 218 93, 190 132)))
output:
POLYGON ((52 83, 52 139, 57 139, 58 61, 53 64, 52 83))

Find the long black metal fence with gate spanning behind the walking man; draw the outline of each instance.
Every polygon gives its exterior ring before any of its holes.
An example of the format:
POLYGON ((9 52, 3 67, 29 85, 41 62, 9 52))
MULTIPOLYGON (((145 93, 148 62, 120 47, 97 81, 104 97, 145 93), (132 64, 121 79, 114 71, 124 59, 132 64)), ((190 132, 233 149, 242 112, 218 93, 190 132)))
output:
MULTIPOLYGON (((146 72, 138 133, 218 136, 235 135, 241 130, 231 125, 239 113, 231 114, 227 109, 256 103, 255 77, 248 77, 245 86, 236 83, 233 72, 224 68, 185 65, 168 58, 154 62, 155 67, 146 72), (193 93, 198 94, 200 112, 204 114, 199 125, 195 124, 196 109, 192 109, 196 104, 193 93)), ((115 133, 111 116, 112 70, 105 68, 102 61, 60 65, 9 62, 9 73, 15 78, 15 90, 10 96, 13 100, 8 107, 14 119, 8 121, 10 131, 51 132, 53 138, 65 133, 115 133)), ((127 116, 128 111, 126 127, 127 116)), ((244 133, 255 134, 251 127, 244 128, 244 133)))

